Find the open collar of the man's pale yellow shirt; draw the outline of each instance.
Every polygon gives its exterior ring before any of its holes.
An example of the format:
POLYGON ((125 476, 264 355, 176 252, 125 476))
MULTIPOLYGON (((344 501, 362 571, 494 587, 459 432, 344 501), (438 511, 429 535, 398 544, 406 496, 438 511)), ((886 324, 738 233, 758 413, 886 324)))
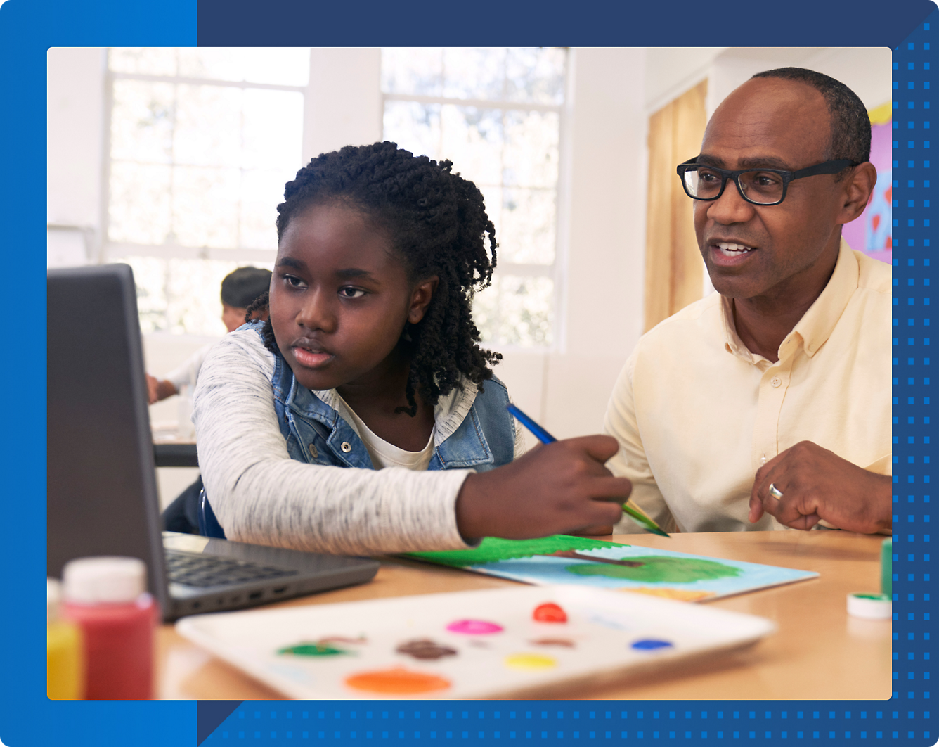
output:
MULTIPOLYGON (((851 300, 857 288, 860 271, 854 252, 844 239, 839 247, 835 271, 831 273, 821 295, 808 307, 808 311, 786 335, 779 346, 777 356, 780 361, 792 356, 796 350, 805 350, 809 358, 824 345, 835 325, 851 300)), ((762 355, 754 355, 747 350, 743 340, 737 335, 733 324, 733 306, 731 300, 721 296, 721 319, 724 326, 724 349, 748 364, 757 365, 766 361, 762 355)), ((768 362, 767 362, 768 364, 768 362)))

